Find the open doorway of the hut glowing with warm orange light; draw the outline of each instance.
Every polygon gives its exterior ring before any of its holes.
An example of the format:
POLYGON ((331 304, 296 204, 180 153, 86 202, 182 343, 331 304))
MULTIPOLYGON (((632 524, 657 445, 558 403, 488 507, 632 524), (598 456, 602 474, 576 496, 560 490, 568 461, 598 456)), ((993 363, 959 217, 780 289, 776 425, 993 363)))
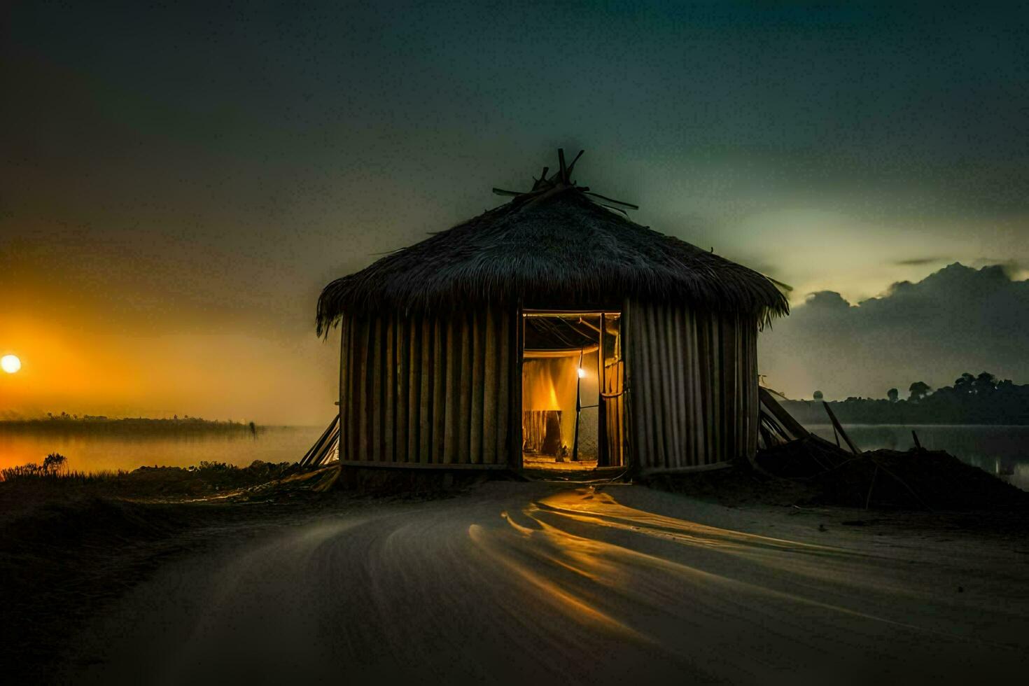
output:
POLYGON ((523 313, 523 467, 625 465, 620 322, 617 312, 523 313))

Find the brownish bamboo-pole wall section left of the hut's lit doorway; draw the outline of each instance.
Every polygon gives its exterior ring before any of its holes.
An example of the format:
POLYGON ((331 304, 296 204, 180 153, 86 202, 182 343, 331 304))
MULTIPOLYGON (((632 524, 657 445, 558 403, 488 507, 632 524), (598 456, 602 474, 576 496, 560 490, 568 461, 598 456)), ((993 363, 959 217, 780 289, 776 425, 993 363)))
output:
POLYGON ((508 466, 521 421, 514 314, 447 315, 344 321, 342 462, 508 466))

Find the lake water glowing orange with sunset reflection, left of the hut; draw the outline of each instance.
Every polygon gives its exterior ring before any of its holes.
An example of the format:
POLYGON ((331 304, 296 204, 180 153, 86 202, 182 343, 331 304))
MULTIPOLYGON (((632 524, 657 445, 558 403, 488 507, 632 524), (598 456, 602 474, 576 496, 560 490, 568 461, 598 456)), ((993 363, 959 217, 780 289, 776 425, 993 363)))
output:
POLYGON ((296 462, 324 427, 261 427, 249 431, 184 431, 156 435, 33 431, 0 425, 0 468, 39 463, 48 453, 68 458, 69 469, 131 471, 141 466, 187 467, 201 461, 245 467, 254 460, 296 462))

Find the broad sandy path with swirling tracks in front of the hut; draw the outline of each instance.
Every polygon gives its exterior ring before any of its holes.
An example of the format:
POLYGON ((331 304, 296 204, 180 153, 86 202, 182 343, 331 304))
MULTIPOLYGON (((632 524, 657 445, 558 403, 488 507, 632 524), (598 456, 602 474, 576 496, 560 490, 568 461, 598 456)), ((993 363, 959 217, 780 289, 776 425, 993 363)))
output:
POLYGON ((1029 666, 1029 543, 490 483, 176 563, 76 682, 961 682, 1029 666), (958 592, 958 586, 963 592, 958 592), (386 680, 386 681, 384 681, 386 680))

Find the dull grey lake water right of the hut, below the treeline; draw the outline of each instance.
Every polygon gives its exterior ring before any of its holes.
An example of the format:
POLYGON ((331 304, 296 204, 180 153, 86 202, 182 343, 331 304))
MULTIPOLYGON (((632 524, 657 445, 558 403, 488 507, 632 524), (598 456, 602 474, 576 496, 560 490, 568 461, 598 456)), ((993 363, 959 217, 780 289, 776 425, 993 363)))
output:
MULTIPOLYGON (((833 440, 830 424, 809 424, 807 428, 833 440)), ((947 450, 969 465, 1029 491, 1029 426, 845 424, 844 429, 862 450, 881 447, 907 450, 915 445, 911 435, 914 429, 922 447, 947 450)))

